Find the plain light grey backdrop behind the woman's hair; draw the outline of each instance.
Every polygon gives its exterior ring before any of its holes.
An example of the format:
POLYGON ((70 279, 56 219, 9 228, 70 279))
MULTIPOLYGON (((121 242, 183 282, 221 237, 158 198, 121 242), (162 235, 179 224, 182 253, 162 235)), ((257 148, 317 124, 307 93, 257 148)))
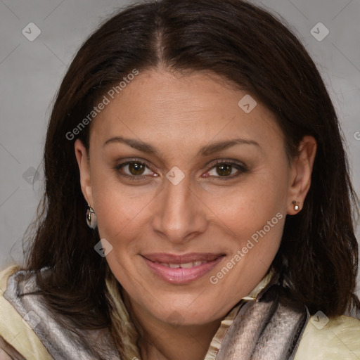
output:
MULTIPOLYGON (((254 2, 283 17, 319 65, 338 110, 359 195, 360 0, 254 2), (313 36, 314 32, 319 32, 314 34, 318 38, 325 34, 325 29, 316 27, 318 23, 330 32, 322 41, 313 36)), ((60 81, 96 25, 131 3, 0 0, 0 268, 23 259, 22 238, 40 199, 46 123, 60 81), (34 41, 22 33, 23 29, 30 32, 29 23, 41 30, 34 41)))

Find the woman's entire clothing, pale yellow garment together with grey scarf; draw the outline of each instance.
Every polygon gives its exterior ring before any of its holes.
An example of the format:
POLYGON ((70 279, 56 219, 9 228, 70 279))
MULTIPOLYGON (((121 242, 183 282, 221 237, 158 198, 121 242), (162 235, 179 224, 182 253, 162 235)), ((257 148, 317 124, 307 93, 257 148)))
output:
MULTIPOLYGON (((274 285, 273 275, 265 276, 221 321, 204 360, 360 359, 359 320, 338 316, 319 328, 313 317, 309 321, 306 308, 274 285)), ((66 335, 41 298, 30 295, 36 289, 34 277, 25 277, 17 266, 0 273, 0 359, 3 348, 11 356, 4 359, 91 360, 97 359, 100 344, 106 359, 119 359, 105 330, 66 335)))

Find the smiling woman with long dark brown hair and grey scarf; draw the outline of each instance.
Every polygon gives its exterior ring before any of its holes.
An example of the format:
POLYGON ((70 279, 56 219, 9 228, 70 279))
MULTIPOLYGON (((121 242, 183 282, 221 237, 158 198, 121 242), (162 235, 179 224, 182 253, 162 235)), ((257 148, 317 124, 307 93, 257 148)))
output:
POLYGON ((110 18, 63 79, 44 165, 27 266, 1 276, 2 356, 360 356, 338 120, 266 11, 162 0, 110 18))

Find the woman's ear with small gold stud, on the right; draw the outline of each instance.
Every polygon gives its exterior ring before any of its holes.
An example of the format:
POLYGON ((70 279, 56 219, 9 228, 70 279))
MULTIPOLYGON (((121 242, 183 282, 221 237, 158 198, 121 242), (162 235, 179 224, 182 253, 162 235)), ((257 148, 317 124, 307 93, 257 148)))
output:
POLYGON ((291 163, 287 212, 290 215, 297 214, 304 205, 304 200, 311 185, 316 147, 316 140, 313 136, 304 136, 299 144, 299 155, 291 163), (296 211, 294 209, 294 200, 300 210, 296 211))

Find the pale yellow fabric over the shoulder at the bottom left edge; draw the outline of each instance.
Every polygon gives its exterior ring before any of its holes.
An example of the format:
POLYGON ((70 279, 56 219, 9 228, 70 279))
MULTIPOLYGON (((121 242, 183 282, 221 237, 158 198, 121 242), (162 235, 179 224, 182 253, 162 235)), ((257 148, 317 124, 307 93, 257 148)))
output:
MULTIPOLYGON (((4 297, 8 278, 19 270, 16 265, 0 271, 0 338, 19 352, 25 359, 53 359, 29 323, 4 297)), ((8 352, 8 350, 6 350, 8 352)))

